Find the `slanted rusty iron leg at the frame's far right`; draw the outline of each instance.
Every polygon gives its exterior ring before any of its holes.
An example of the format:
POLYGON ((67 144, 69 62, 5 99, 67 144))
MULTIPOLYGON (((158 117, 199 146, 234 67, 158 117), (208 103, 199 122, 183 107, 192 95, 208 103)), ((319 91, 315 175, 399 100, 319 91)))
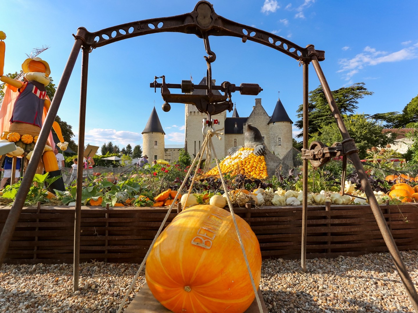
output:
MULTIPOLYGON (((322 72, 321 66, 319 65, 319 61, 316 58, 316 53, 312 55, 311 61, 316 71, 316 75, 318 76, 319 81, 321 82, 321 86, 324 90, 326 100, 329 103, 331 112, 334 115, 338 128, 342 134, 342 138, 343 140, 349 139, 350 136, 348 134, 347 128, 345 127, 339 109, 335 104, 335 100, 332 96, 331 89, 329 88, 328 83, 326 82, 324 73, 322 72)), ((372 187, 370 186, 370 182, 367 179, 367 174, 366 172, 364 172, 363 165, 360 161, 359 154, 357 152, 354 152, 350 154, 349 157, 352 160, 354 167, 356 168, 357 174, 359 175, 363 190, 367 195, 367 199, 369 200, 370 208, 372 209, 377 225, 379 226, 380 232, 382 233, 383 239, 385 240, 387 249, 389 250, 390 255, 392 255, 395 267, 400 275, 400 279, 402 280, 403 286, 406 292, 408 293, 409 300, 411 301, 415 312, 418 312, 417 291, 415 290, 414 284, 409 276, 405 263, 402 260, 398 247, 396 246, 395 240, 393 239, 392 234, 390 233, 389 227, 387 226, 387 223, 385 221, 385 217, 383 216, 379 204, 377 203, 377 199, 373 194, 372 187)))

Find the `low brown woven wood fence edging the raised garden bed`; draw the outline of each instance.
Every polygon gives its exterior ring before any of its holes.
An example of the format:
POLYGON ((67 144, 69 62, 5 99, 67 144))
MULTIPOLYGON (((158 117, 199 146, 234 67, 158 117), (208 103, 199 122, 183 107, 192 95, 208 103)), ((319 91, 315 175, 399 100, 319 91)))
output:
MULTIPOLYGON (((382 205, 399 250, 418 249, 418 205, 382 205)), ((0 209, 0 229, 9 213, 0 209)), ((166 208, 82 207, 80 261, 140 263, 166 215, 166 208)), ((177 215, 172 211, 167 224, 177 215)), ((257 235, 262 255, 301 257, 302 208, 235 208, 257 235)), ((74 207, 25 207, 5 263, 72 263, 74 207)), ((307 258, 387 251, 367 205, 308 207, 307 258)))

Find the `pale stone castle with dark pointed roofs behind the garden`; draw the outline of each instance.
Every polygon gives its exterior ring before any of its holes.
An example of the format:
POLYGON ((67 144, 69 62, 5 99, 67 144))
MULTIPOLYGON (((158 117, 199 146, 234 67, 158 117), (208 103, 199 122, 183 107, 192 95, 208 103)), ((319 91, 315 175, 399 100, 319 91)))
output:
MULTIPOLYGON (((212 81, 215 84, 215 81, 212 81)), ((206 77, 202 79, 199 85, 206 85, 206 77)), ((205 93, 203 89, 196 89, 192 94, 205 93)), ((213 93, 220 94, 213 90, 213 93)), ((191 156, 196 155, 203 143, 202 120, 207 118, 206 114, 197 110, 192 104, 185 104, 185 143, 186 149, 191 156)), ((236 106, 232 117, 227 117, 226 111, 212 116, 212 119, 218 120, 219 124, 214 125, 214 129, 224 128, 222 140, 213 140, 218 159, 228 155, 228 149, 232 146, 244 145, 243 129, 245 124, 251 124, 257 127, 264 139, 265 145, 276 156, 282 158, 292 149, 292 124, 286 110, 278 99, 273 114, 269 116, 261 105, 261 98, 255 99, 255 105, 248 117, 240 117, 236 106)), ((165 132, 161 126, 155 107, 151 112, 150 118, 142 132, 143 134, 143 153, 149 156, 149 159, 165 159, 173 162, 178 159, 180 148, 164 146, 165 132)))

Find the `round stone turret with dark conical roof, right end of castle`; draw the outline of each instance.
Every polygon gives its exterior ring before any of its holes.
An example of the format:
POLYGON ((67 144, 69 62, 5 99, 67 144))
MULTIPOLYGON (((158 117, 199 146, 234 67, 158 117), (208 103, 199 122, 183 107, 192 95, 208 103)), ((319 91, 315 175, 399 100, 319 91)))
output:
POLYGON ((283 158, 293 147, 292 124, 282 101, 278 98, 273 115, 268 121, 270 129, 270 147, 272 152, 283 158))

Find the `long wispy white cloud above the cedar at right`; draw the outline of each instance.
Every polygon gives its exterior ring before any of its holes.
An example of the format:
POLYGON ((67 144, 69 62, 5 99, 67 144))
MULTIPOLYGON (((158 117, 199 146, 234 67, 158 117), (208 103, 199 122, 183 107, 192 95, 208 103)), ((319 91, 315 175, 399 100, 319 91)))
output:
POLYGON ((363 51, 364 52, 354 56, 354 58, 344 58, 339 60, 341 69, 337 71, 337 73, 344 73, 344 79, 346 81, 351 80, 352 76, 359 73, 359 70, 363 69, 364 66, 399 62, 418 57, 417 45, 412 45, 408 48, 403 48, 393 53, 378 51, 375 48, 371 48, 370 46, 365 47, 363 51))

